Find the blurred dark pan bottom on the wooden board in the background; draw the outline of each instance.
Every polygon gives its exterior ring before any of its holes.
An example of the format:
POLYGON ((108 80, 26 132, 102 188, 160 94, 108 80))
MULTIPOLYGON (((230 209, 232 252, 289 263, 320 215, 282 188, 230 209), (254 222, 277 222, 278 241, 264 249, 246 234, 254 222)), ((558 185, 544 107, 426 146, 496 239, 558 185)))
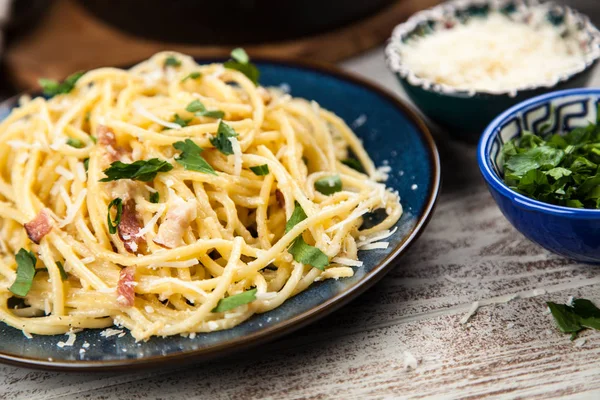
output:
POLYGON ((79 0, 125 32, 168 42, 243 45, 294 39, 367 17, 394 0, 79 0))

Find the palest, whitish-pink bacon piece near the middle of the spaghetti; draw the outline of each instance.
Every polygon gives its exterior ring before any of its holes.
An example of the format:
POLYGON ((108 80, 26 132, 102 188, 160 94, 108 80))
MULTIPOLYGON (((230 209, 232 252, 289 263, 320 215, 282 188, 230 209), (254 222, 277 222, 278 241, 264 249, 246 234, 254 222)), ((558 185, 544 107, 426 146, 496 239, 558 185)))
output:
POLYGON ((183 234, 194 219, 196 219, 196 202, 175 197, 169 204, 165 222, 158 228, 154 243, 169 249, 183 246, 185 244, 183 234))

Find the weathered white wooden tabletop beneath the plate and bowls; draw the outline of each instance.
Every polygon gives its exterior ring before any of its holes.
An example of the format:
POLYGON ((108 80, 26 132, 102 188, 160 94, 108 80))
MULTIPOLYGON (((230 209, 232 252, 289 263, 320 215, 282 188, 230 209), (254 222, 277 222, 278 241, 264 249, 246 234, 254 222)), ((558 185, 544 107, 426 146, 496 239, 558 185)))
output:
MULTIPOLYGON (((381 49, 343 67, 403 96, 381 49)), ((431 223, 397 268, 340 311, 198 367, 67 374, 0 366, 0 399, 600 398, 600 332, 571 342, 545 306, 568 296, 600 303, 600 269, 521 236, 484 187, 475 149, 437 136, 444 183, 431 223), (461 324, 474 301, 483 306, 461 324)))

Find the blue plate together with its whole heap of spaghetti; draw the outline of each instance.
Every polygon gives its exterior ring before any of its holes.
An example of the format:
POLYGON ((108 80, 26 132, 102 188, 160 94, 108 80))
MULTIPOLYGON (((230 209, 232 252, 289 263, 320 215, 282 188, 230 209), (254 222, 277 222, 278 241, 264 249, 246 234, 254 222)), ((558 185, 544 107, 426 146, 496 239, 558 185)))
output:
POLYGON ((114 369, 271 340, 425 227, 433 139, 329 67, 163 52, 0 105, 0 360, 114 369))

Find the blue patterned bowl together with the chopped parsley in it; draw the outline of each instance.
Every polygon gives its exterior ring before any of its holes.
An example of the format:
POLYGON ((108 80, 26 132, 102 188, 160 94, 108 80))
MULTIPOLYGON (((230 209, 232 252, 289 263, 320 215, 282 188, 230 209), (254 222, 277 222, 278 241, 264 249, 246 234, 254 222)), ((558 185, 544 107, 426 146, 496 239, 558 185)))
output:
POLYGON ((523 235, 600 263, 600 89, 552 92, 510 108, 484 131, 478 162, 523 235))

